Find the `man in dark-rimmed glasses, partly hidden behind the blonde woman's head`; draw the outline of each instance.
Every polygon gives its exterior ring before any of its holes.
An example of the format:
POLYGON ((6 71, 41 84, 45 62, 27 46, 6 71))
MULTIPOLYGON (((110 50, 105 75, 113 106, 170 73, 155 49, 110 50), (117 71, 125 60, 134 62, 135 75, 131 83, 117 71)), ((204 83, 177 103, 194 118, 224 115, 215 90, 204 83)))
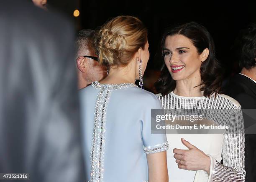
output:
POLYGON ((107 76, 107 70, 99 65, 94 44, 94 30, 80 30, 76 39, 76 63, 78 89, 87 87, 92 82, 107 76))

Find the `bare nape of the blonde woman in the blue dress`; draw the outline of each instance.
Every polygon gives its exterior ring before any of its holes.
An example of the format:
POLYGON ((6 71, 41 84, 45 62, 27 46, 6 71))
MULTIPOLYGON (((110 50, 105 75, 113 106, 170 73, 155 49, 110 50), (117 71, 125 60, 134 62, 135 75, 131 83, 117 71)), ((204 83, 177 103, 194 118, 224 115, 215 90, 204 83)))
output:
POLYGON ((136 71, 132 64, 125 67, 110 68, 108 76, 100 81, 102 84, 135 83, 136 71))

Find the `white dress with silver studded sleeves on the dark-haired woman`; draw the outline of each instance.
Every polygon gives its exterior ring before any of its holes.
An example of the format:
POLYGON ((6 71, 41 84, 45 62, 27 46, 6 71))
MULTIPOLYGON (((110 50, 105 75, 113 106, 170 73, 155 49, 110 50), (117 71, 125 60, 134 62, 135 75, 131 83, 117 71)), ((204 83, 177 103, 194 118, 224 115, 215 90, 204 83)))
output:
POLYGON ((167 133, 169 150, 167 150, 167 165, 169 182, 244 182, 244 124, 241 105, 227 95, 212 95, 208 97, 182 97, 173 92, 168 95, 157 95, 166 113, 172 113, 173 109, 203 109, 215 112, 210 120, 218 125, 228 125, 229 128, 220 134, 199 133, 167 133), (214 111, 215 110, 215 111, 214 111), (210 175, 204 170, 189 171, 179 169, 175 162, 173 149, 187 150, 181 138, 210 156, 210 175), (221 160, 223 159, 223 164, 221 160))

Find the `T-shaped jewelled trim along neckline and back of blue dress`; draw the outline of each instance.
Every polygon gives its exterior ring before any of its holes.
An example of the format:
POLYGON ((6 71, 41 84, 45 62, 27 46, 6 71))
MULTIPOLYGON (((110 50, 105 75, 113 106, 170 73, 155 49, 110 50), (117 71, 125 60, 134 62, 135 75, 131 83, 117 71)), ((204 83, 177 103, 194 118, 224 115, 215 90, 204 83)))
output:
POLYGON ((106 134, 106 113, 109 98, 113 90, 129 87, 138 87, 132 83, 124 84, 100 84, 93 82, 92 86, 99 89, 94 112, 94 127, 91 145, 91 178, 90 182, 103 182, 104 174, 104 152, 106 134))

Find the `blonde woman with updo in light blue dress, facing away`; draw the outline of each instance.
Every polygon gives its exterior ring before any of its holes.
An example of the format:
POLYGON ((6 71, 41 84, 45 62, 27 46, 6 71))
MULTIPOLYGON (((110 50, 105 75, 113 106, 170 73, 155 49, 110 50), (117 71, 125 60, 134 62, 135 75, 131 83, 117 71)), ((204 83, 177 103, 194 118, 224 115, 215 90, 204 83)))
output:
POLYGON ((151 134, 158 98, 137 87, 149 59, 147 29, 136 17, 118 16, 97 32, 99 62, 108 76, 80 91, 86 180, 167 182, 165 133, 151 134))

